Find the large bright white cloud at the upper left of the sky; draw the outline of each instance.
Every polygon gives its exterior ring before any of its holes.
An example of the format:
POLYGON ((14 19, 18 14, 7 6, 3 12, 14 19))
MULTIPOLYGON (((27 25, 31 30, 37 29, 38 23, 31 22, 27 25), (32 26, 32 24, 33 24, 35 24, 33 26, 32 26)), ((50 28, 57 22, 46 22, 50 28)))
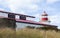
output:
POLYGON ((8 2, 8 6, 12 12, 25 12, 24 10, 38 10, 36 3, 42 2, 42 0, 6 0, 6 2, 8 2))

